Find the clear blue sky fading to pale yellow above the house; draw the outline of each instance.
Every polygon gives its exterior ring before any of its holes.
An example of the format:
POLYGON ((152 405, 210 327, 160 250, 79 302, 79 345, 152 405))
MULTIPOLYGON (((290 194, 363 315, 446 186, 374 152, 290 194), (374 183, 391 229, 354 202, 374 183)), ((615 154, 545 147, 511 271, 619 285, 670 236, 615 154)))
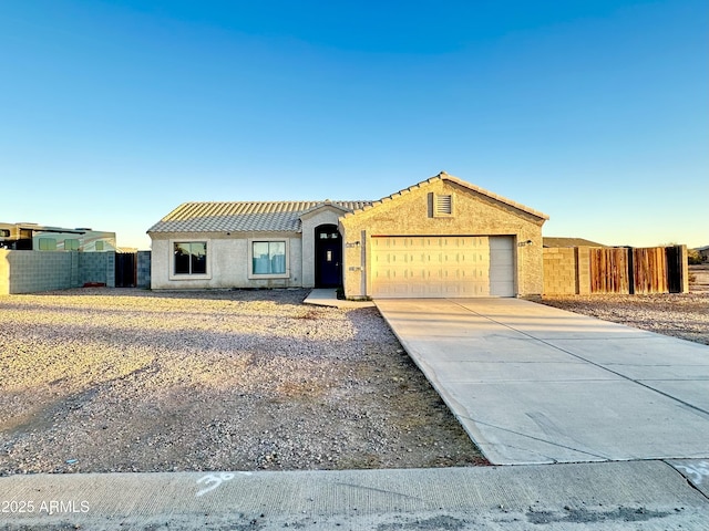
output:
POLYGON ((709 244, 709 3, 0 3, 0 221, 378 199, 445 170, 545 236, 709 244))

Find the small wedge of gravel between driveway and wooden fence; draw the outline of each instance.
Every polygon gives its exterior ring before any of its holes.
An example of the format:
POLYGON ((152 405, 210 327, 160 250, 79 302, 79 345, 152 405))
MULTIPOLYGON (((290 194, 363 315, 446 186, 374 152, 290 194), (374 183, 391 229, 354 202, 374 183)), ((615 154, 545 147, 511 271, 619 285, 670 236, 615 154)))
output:
POLYGON ((544 296, 544 304, 709 345, 709 292, 544 296))

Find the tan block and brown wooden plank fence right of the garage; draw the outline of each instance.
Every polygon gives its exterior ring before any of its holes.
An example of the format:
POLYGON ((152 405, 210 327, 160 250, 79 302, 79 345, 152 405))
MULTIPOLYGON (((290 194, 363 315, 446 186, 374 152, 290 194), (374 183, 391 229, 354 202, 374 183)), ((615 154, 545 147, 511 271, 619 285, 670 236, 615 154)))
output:
POLYGON ((544 293, 684 293, 687 247, 544 249, 544 293))

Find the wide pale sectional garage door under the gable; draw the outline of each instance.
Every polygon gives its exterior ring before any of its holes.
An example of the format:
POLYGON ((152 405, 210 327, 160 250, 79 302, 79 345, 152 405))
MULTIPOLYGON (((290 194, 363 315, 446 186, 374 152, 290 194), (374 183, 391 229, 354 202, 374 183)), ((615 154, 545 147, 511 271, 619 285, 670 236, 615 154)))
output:
POLYGON ((501 236, 371 239, 372 296, 514 296, 514 246, 501 236))

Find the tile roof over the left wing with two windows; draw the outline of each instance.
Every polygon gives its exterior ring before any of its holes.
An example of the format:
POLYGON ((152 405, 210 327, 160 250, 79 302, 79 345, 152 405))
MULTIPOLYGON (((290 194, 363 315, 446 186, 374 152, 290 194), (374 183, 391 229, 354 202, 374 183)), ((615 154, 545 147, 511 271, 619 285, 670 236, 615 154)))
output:
POLYGON ((327 205, 351 211, 371 201, 184 202, 147 232, 299 232, 300 216, 327 205))

